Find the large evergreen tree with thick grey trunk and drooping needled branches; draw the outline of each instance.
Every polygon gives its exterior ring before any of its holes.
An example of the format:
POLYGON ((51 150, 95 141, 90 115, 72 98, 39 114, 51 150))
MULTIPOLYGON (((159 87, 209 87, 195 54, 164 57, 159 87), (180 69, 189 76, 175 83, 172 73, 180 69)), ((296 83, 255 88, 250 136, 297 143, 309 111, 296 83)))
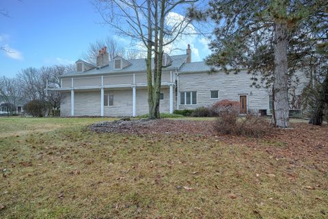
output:
POLYGON ((253 74, 253 86, 271 86, 272 125, 288 127, 288 80, 296 70, 327 66, 327 1, 324 0, 210 0, 189 16, 215 22, 213 54, 208 64, 226 73, 241 66, 253 74), (261 79, 260 81, 258 79, 261 79))

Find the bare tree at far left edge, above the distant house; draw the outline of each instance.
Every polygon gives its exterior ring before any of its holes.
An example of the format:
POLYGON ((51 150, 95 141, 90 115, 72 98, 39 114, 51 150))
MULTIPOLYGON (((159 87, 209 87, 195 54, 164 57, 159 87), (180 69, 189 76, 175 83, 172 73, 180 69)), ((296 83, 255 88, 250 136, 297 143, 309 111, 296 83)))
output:
POLYGON ((1 77, 0 79, 0 96, 5 102, 8 115, 16 110, 16 103, 20 100, 21 86, 17 79, 1 77))

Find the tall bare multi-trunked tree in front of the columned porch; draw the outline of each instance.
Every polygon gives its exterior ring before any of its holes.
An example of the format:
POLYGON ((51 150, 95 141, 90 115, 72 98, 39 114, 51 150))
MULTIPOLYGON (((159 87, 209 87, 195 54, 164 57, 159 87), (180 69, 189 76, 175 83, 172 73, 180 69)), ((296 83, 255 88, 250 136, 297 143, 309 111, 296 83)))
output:
MULTIPOLYGON (((191 20, 186 16, 170 18, 179 5, 198 0, 94 0, 103 20, 118 34, 141 42, 147 51, 147 87, 149 117, 159 118, 159 96, 164 47, 189 34, 191 20), (165 22, 166 21, 166 22, 165 22), (154 66, 152 66, 152 57, 154 66)), ((182 8, 187 7, 180 7, 182 8)), ((184 12, 185 13, 185 12, 184 12)))

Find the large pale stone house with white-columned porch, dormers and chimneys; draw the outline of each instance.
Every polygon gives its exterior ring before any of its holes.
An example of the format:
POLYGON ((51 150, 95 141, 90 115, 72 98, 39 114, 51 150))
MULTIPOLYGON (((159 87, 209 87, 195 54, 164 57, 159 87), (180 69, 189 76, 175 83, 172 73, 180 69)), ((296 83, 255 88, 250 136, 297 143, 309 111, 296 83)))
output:
MULTIPOLYGON (((78 60, 77 71, 61 76, 66 93, 61 103, 61 116, 139 116, 148 114, 146 60, 124 60, 115 57, 109 62, 104 47, 99 51, 97 66, 78 60)), ((241 102, 241 113, 256 110, 271 114, 270 89, 251 88, 247 70, 229 74, 205 62, 191 62, 191 49, 185 55, 163 57, 160 111, 195 109, 222 99, 241 102)), ((303 86, 303 83, 301 85, 303 86)))

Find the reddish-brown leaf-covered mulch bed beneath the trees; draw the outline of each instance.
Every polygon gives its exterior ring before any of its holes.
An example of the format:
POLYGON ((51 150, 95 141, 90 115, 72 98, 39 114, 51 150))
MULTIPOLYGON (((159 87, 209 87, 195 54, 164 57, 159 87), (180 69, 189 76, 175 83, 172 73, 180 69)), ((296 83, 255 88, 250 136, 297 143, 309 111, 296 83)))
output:
POLYGON ((327 159, 328 125, 318 127, 308 123, 292 123, 290 127, 290 129, 270 129, 271 131, 262 138, 221 135, 215 131, 215 121, 204 120, 115 120, 95 123, 88 128, 91 131, 107 133, 201 136, 215 138, 224 144, 239 144, 261 149, 274 157, 301 159, 310 156, 318 157, 320 162, 327 159))

